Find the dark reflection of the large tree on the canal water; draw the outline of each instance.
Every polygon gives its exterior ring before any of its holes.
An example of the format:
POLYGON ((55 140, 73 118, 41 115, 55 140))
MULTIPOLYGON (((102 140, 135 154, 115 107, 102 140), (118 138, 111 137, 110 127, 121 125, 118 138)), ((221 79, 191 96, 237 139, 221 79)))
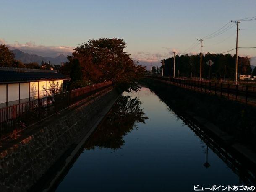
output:
POLYGON ((141 101, 137 97, 121 96, 103 124, 98 127, 89 138, 85 148, 87 150, 99 148, 118 149, 125 144, 123 136, 137 127, 138 122, 145 123, 148 117, 144 116, 141 101))

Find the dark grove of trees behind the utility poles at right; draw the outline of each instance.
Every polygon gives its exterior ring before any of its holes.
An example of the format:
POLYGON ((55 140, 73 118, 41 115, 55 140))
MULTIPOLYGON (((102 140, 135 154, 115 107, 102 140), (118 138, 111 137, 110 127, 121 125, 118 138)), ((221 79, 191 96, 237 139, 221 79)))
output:
MULTIPOLYGON (((212 60, 211 72, 217 77, 234 78, 235 74, 235 55, 231 54, 212 54, 202 55, 202 77, 209 76, 209 66, 206 64, 212 60), (226 66, 226 70, 225 70, 226 66)), ((199 77, 200 55, 176 55, 175 56, 175 74, 183 77, 199 77)), ((250 58, 238 57, 238 73, 243 75, 251 74, 250 58)), ((173 75, 173 57, 165 59, 164 75, 173 75)))

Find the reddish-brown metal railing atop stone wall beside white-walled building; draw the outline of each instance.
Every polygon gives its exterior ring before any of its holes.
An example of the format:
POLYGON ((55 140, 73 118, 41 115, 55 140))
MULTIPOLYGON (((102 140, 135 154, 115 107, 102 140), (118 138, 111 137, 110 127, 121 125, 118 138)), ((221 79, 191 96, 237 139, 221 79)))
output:
POLYGON ((0 140, 11 135, 16 137, 16 133, 26 127, 50 117, 111 85, 111 81, 97 83, 72 91, 2 108, 0 109, 0 140))

